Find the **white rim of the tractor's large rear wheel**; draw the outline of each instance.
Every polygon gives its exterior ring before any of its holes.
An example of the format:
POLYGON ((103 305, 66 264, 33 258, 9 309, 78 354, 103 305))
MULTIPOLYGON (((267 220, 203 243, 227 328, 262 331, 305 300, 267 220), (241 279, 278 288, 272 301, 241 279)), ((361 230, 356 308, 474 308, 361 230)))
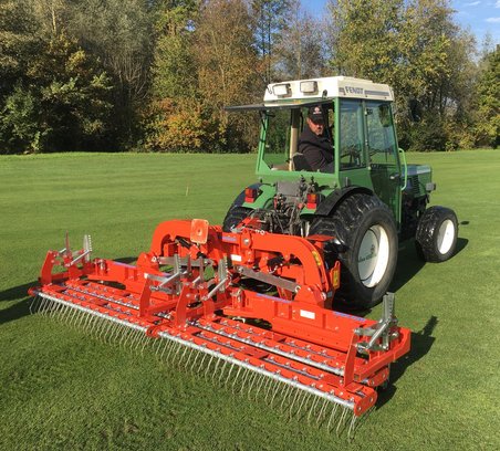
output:
POLYGON ((389 262, 389 240, 382 226, 372 226, 363 237, 357 254, 357 271, 363 285, 378 284, 389 262))

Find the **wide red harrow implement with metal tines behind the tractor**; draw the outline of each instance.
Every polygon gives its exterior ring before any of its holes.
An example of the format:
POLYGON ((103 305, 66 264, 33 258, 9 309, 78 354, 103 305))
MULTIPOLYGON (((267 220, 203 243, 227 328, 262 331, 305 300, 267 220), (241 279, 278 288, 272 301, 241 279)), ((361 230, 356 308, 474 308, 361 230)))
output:
POLYGON ((410 331, 397 325, 392 294, 378 322, 332 310, 340 263, 323 261, 331 240, 269 233, 252 219, 233 232, 205 220, 167 221, 132 265, 92 259, 90 237, 73 252, 66 238, 63 250, 48 252, 29 292, 41 313, 154 346, 351 434, 389 365, 408 353, 410 331))

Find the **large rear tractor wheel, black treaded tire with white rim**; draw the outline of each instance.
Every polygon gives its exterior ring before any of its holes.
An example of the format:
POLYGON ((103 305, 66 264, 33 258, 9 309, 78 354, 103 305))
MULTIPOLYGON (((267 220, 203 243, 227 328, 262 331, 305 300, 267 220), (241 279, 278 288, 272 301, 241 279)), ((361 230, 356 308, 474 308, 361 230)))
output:
POLYGON ((348 196, 333 214, 316 218, 310 234, 341 241, 332 256, 336 254, 341 261, 336 295, 344 303, 369 308, 382 301, 396 270, 398 239, 393 214, 381 199, 366 193, 348 196))

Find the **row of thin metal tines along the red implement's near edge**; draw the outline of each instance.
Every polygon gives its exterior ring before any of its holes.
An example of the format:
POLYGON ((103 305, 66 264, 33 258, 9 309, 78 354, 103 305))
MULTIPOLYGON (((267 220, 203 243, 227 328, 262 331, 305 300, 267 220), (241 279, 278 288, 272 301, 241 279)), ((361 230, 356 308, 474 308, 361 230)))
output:
POLYGON ((324 427, 327 431, 335 430, 337 434, 347 430, 347 438, 354 438, 357 417, 352 409, 296 385, 273 379, 257 371, 257 368, 218 358, 180 339, 168 339, 167 335, 162 335, 166 339, 153 339, 146 334, 145 327, 45 294, 33 298, 30 312, 62 319, 104 343, 117 343, 121 347, 140 353, 149 347, 170 366, 211 380, 235 395, 246 396, 249 400, 263 400, 271 409, 281 411, 290 419, 306 420, 309 424, 324 427))

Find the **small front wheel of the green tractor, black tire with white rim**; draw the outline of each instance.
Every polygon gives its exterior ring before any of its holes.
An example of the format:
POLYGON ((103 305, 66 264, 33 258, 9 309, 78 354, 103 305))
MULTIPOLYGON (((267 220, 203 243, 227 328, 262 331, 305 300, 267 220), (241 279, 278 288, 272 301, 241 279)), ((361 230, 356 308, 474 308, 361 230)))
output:
POLYGON ((425 262, 445 262, 455 253, 457 237, 455 211, 446 207, 430 207, 418 221, 415 233, 417 254, 425 262))

